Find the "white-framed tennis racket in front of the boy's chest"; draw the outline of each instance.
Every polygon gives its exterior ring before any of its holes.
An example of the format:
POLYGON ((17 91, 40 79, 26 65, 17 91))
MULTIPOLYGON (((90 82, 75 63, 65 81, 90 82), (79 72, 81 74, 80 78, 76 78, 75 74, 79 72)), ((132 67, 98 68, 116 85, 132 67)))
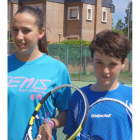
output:
POLYGON ((78 140, 132 140, 132 106, 113 98, 98 99, 89 107, 78 140))

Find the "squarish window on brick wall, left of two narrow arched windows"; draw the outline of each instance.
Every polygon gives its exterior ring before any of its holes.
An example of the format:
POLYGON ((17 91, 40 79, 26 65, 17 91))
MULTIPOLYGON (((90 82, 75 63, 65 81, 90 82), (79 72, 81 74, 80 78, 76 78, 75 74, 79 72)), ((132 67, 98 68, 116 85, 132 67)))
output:
POLYGON ((68 7, 68 20, 79 19, 79 7, 68 7))

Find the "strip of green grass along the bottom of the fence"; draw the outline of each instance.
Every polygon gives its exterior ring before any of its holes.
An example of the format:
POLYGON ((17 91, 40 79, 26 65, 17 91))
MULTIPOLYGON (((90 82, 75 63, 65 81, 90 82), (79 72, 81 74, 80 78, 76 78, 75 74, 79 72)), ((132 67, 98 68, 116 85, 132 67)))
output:
MULTIPOLYGON (((70 74, 71 81, 80 81, 80 74, 70 74)), ((86 74, 85 72, 81 73, 81 81, 85 82, 96 82, 94 73, 86 74)), ((121 72, 118 81, 125 84, 132 84, 132 73, 121 72)))

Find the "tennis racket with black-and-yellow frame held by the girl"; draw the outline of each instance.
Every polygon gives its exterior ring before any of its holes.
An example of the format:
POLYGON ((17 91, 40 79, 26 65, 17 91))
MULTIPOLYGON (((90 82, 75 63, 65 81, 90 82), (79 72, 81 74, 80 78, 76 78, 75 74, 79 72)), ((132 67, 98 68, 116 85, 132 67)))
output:
MULTIPOLYGON (((33 115, 31 116, 30 122, 29 122, 29 127, 28 127, 28 131, 25 137, 25 140, 34 140, 34 139, 40 139, 40 140, 47 140, 47 137, 45 136, 45 132, 42 132, 41 135, 38 133, 39 132, 39 128, 40 126, 43 124, 44 122, 44 116, 40 115, 43 114, 41 113, 41 107, 43 106, 43 104, 49 100, 49 98, 53 97, 53 95, 58 92, 59 90, 65 89, 65 88, 70 88, 71 90, 71 94, 73 94, 73 92, 75 90, 78 91, 78 96, 80 97, 80 100, 82 100, 82 102, 84 102, 84 104, 82 105, 83 110, 81 111, 81 114, 79 115, 77 113, 77 118, 79 121, 79 125, 76 125, 76 131, 68 138, 68 140, 73 140, 76 138, 76 136, 78 135, 78 133, 82 130, 87 116, 88 116, 88 110, 89 110, 89 104, 86 98, 86 95, 84 94, 84 92, 79 89, 78 87, 74 86, 74 85, 70 85, 70 84, 65 84, 65 85, 61 85, 58 86, 56 88, 54 88, 53 90, 51 90, 49 93, 46 94, 46 96, 44 96, 44 98, 40 101, 40 103, 36 106, 33 115), (79 115, 79 116, 78 116, 79 115)), ((61 94, 61 92, 59 93, 61 94)), ((67 93, 65 93, 67 94, 67 93)), ((58 95, 59 98, 59 95, 58 95)), ((62 100, 62 105, 63 103, 66 101, 66 99, 64 98, 62 100)), ((71 106, 69 106, 70 108, 71 106)), ((80 106, 81 107, 81 106, 80 106)), ((77 112, 79 112, 79 108, 77 108, 77 112)), ((58 110, 56 109, 56 116, 58 115, 58 110)), ((49 112, 47 113, 47 118, 49 118, 49 112)), ((47 119, 45 118, 45 120, 47 119)), ((67 120, 68 121, 68 120, 67 120)), ((55 131, 54 133, 56 133, 55 136, 53 136, 53 139, 55 140, 65 140, 66 139, 66 135, 63 133, 63 127, 61 128, 57 128, 57 129, 53 129, 53 131, 55 131)))

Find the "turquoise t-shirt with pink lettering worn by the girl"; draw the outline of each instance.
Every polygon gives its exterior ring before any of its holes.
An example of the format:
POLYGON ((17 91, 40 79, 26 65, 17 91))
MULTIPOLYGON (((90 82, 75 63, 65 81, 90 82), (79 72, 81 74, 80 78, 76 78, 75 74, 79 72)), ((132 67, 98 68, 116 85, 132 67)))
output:
MULTIPOLYGON (((19 61, 15 53, 8 56, 8 140, 24 139, 37 104, 50 90, 62 84, 70 84, 68 70, 62 62, 46 54, 30 62, 19 61)), ((41 107, 40 115, 46 118, 49 114, 49 118, 53 118, 56 108, 68 109, 69 100, 69 89, 55 92, 41 107)))

